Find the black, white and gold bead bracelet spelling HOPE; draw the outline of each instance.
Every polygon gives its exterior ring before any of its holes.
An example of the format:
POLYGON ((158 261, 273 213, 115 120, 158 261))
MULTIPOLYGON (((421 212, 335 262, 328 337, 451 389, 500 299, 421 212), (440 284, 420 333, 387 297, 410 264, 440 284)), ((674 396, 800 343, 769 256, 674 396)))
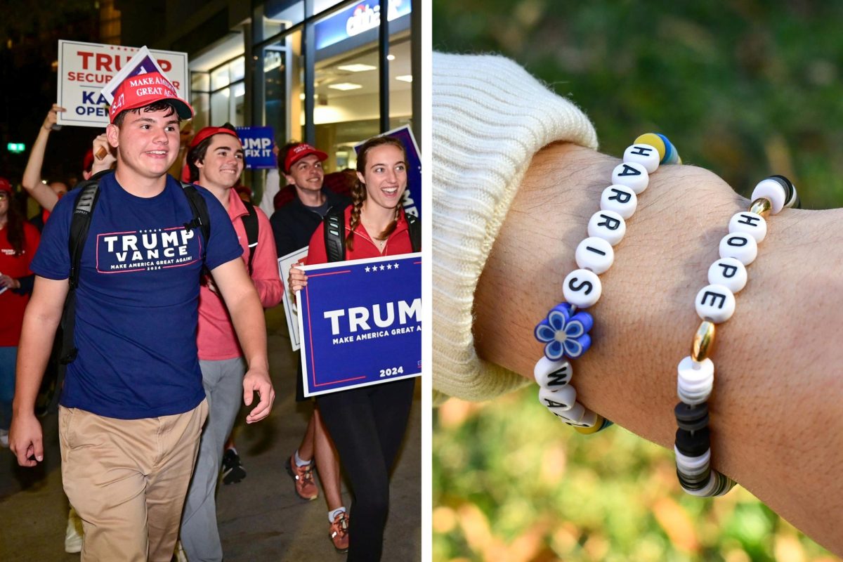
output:
POLYGON ((676 392, 679 404, 676 424, 676 475, 690 495, 724 495, 735 482, 711 468, 711 436, 708 430, 708 397, 714 385, 711 362, 715 326, 726 322, 735 311, 735 293, 747 281, 746 266, 755 260, 758 244, 767 234, 765 217, 797 204, 796 188, 784 176, 761 181, 752 192, 749 211, 729 220, 729 233, 720 241, 720 259, 708 269, 709 285, 696 294, 696 313, 702 319, 694 335, 690 356, 679 361, 676 392))

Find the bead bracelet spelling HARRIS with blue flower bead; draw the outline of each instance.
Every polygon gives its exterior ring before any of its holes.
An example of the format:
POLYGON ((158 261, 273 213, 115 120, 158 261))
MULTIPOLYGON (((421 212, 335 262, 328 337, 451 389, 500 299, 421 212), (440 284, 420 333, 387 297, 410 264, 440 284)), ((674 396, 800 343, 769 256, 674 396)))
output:
POLYGON ((637 196, 647 189, 650 174, 659 164, 668 163, 682 161, 666 136, 647 133, 626 148, 623 162, 612 171, 612 185, 600 197, 600 210, 588 221, 588 238, 577 246, 579 269, 562 283, 565 302, 551 308, 535 327, 536 339, 545 344, 545 355, 534 367, 540 402, 580 433, 595 433, 612 422, 577 402, 577 391, 571 385, 573 370, 567 359, 577 359, 588 351, 588 331, 593 326, 591 314, 577 309, 598 301, 602 292, 598 276, 615 260, 612 247, 626 233, 626 219, 636 211, 637 196))

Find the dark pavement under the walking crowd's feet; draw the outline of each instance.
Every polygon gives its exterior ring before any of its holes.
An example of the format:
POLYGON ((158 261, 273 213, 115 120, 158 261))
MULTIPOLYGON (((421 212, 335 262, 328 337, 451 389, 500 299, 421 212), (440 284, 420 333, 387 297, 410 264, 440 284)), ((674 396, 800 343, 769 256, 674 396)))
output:
MULTIPOLYGON (((246 470, 239 484, 220 484, 217 521, 226 562, 272 560, 343 562, 328 537, 328 513, 322 490, 303 501, 293 490, 284 460, 298 447, 310 412, 296 404, 294 361, 282 307, 266 312, 270 370, 277 399, 267 420, 244 423, 241 409, 235 426, 237 450, 246 470)), ((421 560, 421 394, 416 396, 404 447, 390 487, 384 562, 421 560)), ((57 415, 42 421, 45 460, 37 468, 20 468, 8 449, 0 449, 0 560, 4 562, 78 560, 64 552, 67 499, 57 435, 57 415)), ((343 483, 342 497, 351 506, 343 483)), ((353 517, 353 514, 352 514, 353 517)), ((352 540, 354 540, 352 536, 352 540)))

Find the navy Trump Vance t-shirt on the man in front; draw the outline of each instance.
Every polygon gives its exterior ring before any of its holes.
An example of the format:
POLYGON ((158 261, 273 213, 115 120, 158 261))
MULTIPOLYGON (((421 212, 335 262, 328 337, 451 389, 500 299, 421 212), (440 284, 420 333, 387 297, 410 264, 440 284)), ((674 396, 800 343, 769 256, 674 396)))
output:
MULTIPOLYGON (((207 190, 213 270, 243 249, 228 214, 207 190)), ((67 240, 81 190, 56 204, 31 270, 67 279, 67 240)), ((202 266, 200 229, 175 179, 154 197, 131 195, 114 174, 99 181, 99 201, 82 253, 76 302, 78 356, 67 366, 61 404, 123 420, 182 414, 205 397, 196 355, 202 266)))

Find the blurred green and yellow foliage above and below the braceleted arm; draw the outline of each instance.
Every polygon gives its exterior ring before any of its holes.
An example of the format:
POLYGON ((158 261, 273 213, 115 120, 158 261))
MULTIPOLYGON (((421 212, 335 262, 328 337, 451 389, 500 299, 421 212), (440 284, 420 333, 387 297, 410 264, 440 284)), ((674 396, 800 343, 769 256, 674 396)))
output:
MULTIPOLYGON (((434 0, 432 12, 434 49, 520 62, 588 113, 604 153, 658 131, 744 196, 784 174, 803 208, 843 206, 843 3, 434 0)), ((434 560, 839 560, 742 488, 685 495, 672 452, 617 426, 581 436, 536 393, 435 411, 434 560)))

